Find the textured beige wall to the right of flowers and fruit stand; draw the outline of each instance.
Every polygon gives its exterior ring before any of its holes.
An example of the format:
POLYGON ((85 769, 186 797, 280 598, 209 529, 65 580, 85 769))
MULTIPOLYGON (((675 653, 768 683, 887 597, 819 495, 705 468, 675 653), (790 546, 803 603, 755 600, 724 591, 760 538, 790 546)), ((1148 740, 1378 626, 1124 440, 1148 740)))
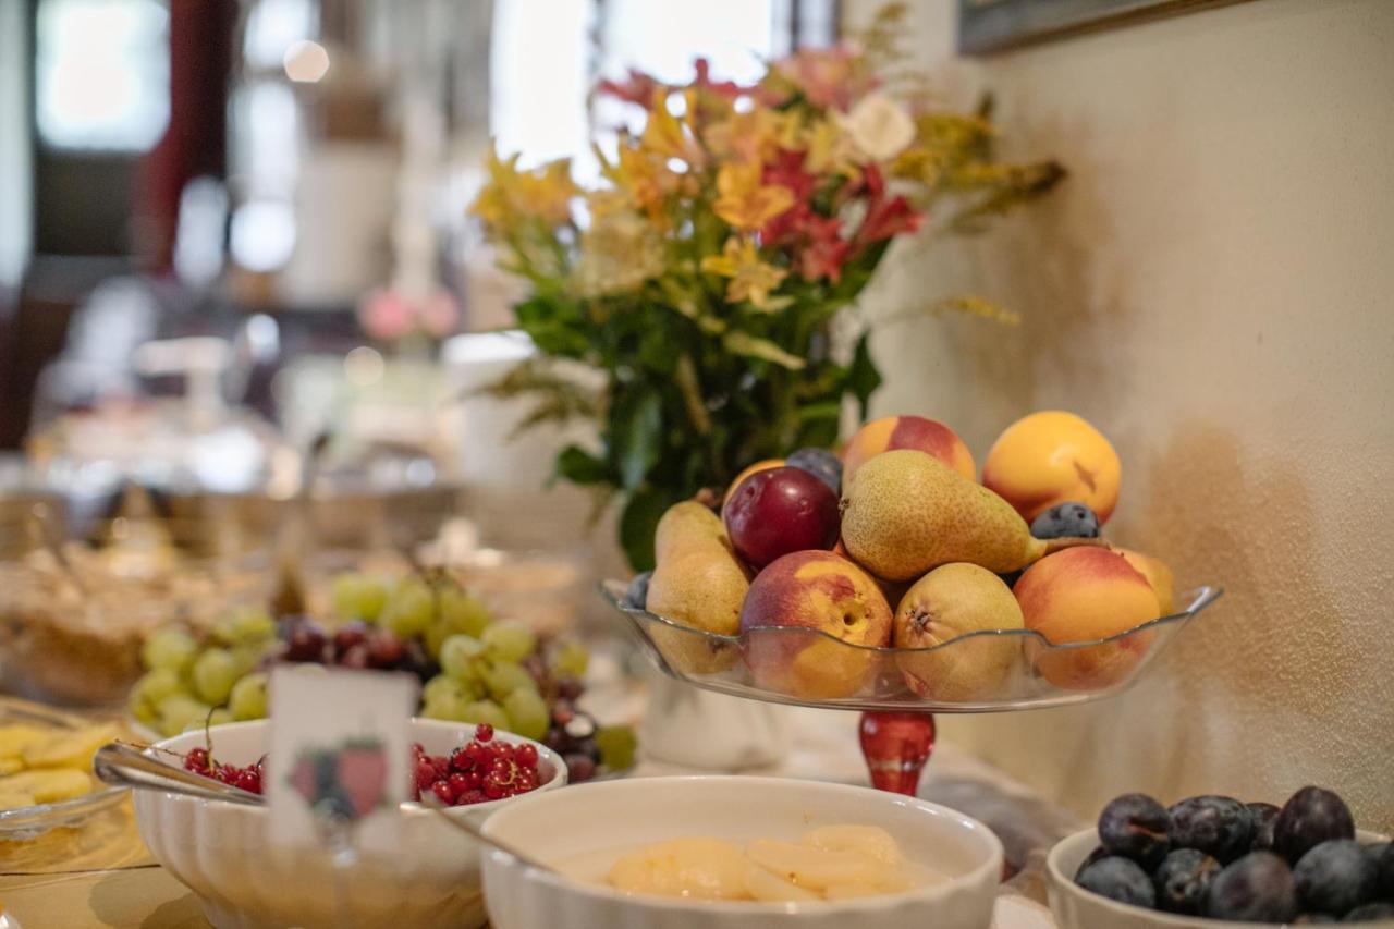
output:
MULTIPOLYGON (((870 3, 853 3, 853 18, 870 3)), ((1228 594, 1122 697, 945 720, 1080 813, 1124 790, 1338 790, 1394 829, 1394 3, 1256 0, 952 61, 1015 153, 1073 172, 987 237, 894 255, 868 310, 981 292, 1016 329, 875 342, 880 411, 942 417, 981 462, 1066 407, 1124 460, 1112 536, 1228 594)))

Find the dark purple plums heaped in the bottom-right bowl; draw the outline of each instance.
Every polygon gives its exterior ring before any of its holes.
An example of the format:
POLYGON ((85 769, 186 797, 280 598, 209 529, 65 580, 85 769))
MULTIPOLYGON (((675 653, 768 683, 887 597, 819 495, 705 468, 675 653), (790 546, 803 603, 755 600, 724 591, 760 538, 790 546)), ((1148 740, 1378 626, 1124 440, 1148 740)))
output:
POLYGON ((1098 816, 1075 883, 1133 907, 1236 922, 1394 919, 1394 844, 1362 845, 1345 802, 1303 787, 1282 808, 1125 794, 1098 816))

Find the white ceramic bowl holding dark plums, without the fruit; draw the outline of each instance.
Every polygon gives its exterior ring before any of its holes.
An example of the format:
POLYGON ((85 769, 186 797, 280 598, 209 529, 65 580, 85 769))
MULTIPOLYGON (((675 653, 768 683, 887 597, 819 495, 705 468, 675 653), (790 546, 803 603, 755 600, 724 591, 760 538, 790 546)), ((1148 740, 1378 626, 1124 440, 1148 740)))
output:
MULTIPOLYGON (((1376 833, 1356 831, 1362 843, 1381 841, 1376 833)), ((1178 916, 1177 914, 1128 904, 1101 897, 1075 883, 1075 872, 1098 847, 1098 833, 1093 829, 1068 836, 1050 849, 1046 870, 1050 875, 1050 908, 1055 914, 1059 929, 1242 929, 1273 923, 1224 922, 1202 919, 1200 916, 1178 916)), ((1394 919, 1362 922, 1369 929, 1388 929, 1394 919)))

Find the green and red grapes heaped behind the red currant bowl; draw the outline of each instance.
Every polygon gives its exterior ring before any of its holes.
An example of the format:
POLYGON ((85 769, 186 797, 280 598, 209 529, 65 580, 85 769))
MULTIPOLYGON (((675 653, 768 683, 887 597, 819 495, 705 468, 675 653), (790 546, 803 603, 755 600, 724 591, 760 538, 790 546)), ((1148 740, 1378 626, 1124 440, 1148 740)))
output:
POLYGON ((197 636, 166 626, 145 643, 145 675, 131 714, 162 735, 266 716, 275 661, 410 671, 422 681, 421 714, 489 724, 562 752, 572 778, 634 763, 627 727, 601 728, 576 709, 585 647, 542 639, 527 625, 495 619, 446 572, 397 580, 365 573, 333 579, 333 617, 275 619, 241 607, 197 636))

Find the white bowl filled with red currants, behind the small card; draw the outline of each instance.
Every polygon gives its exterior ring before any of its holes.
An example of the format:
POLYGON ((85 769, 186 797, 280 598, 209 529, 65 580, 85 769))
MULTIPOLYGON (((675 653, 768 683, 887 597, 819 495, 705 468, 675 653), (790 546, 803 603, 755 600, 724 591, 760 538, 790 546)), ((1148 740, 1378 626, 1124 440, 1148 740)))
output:
MULTIPOLYGON (((164 760, 259 792, 266 721, 185 732, 151 748, 164 760), (205 739, 213 745, 209 762, 205 739)), ((450 802, 450 816, 480 822, 514 795, 566 784, 546 746, 489 727, 411 720, 414 791, 450 802), (495 757, 509 764, 489 778, 495 757)), ((135 791, 135 822, 151 854, 204 905, 216 929, 415 929, 485 923, 480 847, 435 812, 407 803, 392 848, 360 848, 347 873, 332 855, 266 843, 268 809, 135 791)))

